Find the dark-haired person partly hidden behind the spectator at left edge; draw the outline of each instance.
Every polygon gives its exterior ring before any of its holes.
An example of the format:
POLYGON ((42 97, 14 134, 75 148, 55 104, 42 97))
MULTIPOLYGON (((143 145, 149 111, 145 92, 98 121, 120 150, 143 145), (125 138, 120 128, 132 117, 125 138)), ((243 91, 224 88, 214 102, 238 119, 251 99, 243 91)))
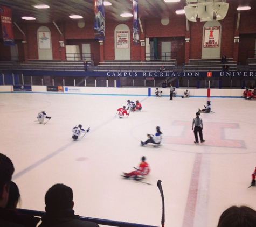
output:
POLYGON ((40 218, 32 215, 23 215, 16 210, 17 204, 20 200, 19 188, 15 182, 10 183, 9 198, 6 204, 8 212, 5 214, 5 219, 18 224, 23 224, 26 227, 36 227, 40 218))

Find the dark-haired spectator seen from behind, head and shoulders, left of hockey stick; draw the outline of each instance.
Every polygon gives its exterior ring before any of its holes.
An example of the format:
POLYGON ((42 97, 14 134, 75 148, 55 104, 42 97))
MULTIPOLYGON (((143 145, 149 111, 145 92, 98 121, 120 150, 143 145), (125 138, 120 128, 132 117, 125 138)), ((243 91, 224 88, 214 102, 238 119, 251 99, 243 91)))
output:
POLYGON ((70 187, 57 183, 45 194, 45 211, 40 227, 99 227, 94 222, 79 220, 74 214, 73 191, 70 187))

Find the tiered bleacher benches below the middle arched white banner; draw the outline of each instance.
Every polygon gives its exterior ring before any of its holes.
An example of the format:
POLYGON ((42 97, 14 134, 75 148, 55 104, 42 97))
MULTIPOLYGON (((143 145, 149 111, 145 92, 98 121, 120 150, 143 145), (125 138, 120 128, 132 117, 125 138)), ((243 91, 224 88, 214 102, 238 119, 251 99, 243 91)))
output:
POLYGON ((98 71, 152 71, 157 72, 161 66, 165 71, 173 71, 176 60, 104 60, 95 70, 98 71))

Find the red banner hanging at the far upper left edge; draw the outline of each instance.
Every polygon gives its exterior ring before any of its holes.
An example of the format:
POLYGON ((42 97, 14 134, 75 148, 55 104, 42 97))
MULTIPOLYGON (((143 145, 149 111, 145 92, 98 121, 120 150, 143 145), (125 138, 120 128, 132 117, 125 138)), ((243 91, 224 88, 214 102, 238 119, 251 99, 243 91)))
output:
POLYGON ((0 16, 1 16, 4 45, 15 46, 13 32, 12 32, 11 8, 0 5, 0 16))

